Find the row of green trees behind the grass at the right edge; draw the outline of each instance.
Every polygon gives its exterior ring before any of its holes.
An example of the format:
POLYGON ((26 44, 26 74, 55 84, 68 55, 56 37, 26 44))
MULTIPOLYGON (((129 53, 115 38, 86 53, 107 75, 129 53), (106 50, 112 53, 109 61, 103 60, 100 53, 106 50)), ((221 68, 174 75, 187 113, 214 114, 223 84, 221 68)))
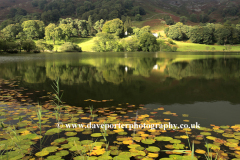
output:
POLYGON ((187 26, 177 23, 165 29, 168 37, 174 40, 190 40, 200 44, 239 44, 239 25, 221 25, 207 23, 205 25, 187 26))

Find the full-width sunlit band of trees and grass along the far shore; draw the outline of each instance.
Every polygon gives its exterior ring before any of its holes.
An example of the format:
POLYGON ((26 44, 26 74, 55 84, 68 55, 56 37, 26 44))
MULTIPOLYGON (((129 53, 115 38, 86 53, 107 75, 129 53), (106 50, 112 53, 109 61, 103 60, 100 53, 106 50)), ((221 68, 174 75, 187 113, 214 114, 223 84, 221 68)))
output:
POLYGON ((87 20, 60 18, 57 23, 26 20, 9 24, 1 30, 0 50, 8 53, 18 53, 22 50, 35 53, 70 50, 95 52, 240 50, 237 45, 240 43, 239 24, 230 25, 226 22, 224 25, 206 23, 188 26, 184 24, 186 22, 184 17, 181 18, 183 23, 176 24, 170 16, 165 15, 163 19, 159 26, 161 29, 165 28, 165 34, 161 31, 152 33, 150 26, 133 27, 132 18, 129 16, 105 21, 96 20, 89 15, 87 20))

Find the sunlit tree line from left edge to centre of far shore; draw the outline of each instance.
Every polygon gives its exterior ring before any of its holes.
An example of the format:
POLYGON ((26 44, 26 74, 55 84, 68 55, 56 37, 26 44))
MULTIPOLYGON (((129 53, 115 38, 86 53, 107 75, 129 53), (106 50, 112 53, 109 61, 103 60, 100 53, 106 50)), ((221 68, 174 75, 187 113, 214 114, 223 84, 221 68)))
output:
MULTIPOLYGON (((173 43, 165 43, 157 40, 151 33, 150 27, 143 28, 132 27, 130 17, 126 17, 125 21, 119 18, 110 21, 103 19, 96 21, 92 20, 92 16, 88 20, 79 19, 60 19, 59 23, 50 23, 45 26, 40 20, 27 20, 22 24, 10 24, 1 31, 2 40, 0 40, 0 50, 14 52, 24 48, 27 52, 31 50, 52 50, 56 41, 69 41, 71 37, 88 37, 97 36, 94 42, 94 51, 176 51, 177 48, 173 43), (126 37, 125 33, 131 36, 126 37), (44 40, 40 40, 44 39, 44 40), (36 45, 32 40, 38 40, 36 45), (53 45, 46 41, 52 41, 53 45), (24 43, 23 43, 24 42, 24 43), (28 48, 22 46, 27 45, 28 48), (31 45, 30 45, 31 44, 31 45), (14 50, 14 51, 13 51, 14 50)), ((61 47, 62 51, 81 51, 77 45, 67 43, 61 47)))

